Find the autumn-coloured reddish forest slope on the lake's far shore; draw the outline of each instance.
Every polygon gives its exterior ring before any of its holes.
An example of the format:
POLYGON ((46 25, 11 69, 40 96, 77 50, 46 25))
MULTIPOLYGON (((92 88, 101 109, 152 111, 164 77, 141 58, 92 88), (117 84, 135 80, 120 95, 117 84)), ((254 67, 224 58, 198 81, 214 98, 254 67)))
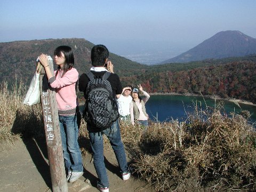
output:
POLYGON ((256 103, 256 62, 252 61, 233 61, 176 72, 146 71, 138 81, 149 93, 202 93, 256 103))

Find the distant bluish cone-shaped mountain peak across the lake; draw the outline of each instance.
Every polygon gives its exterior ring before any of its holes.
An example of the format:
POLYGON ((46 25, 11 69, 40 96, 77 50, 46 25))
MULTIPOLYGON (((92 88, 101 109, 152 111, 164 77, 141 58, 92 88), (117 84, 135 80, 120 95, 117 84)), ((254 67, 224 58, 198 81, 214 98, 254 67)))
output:
POLYGON ((161 63, 241 57, 256 53, 256 39, 238 30, 220 31, 193 49, 161 63))

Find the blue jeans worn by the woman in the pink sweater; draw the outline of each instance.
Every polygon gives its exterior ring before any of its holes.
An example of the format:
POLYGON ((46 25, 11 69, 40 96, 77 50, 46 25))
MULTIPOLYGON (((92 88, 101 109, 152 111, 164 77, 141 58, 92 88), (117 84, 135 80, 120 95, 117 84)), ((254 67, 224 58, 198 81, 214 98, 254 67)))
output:
POLYGON ((77 141, 77 116, 59 115, 59 124, 65 167, 67 171, 82 172, 82 155, 77 141))

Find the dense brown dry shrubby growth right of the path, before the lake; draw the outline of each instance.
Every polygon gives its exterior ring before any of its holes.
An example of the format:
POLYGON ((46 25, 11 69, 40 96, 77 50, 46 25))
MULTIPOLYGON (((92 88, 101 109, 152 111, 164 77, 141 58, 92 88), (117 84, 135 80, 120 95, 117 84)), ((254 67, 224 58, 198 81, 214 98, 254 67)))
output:
POLYGON ((150 125, 137 145, 135 172, 157 191, 256 188, 256 134, 241 115, 195 109, 186 123, 150 125))

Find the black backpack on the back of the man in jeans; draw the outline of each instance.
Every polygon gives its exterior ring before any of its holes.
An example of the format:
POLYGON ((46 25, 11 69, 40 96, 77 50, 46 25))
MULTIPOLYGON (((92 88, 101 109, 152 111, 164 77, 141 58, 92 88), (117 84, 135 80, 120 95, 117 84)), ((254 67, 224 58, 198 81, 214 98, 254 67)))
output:
POLYGON ((112 87, 107 80, 110 74, 107 71, 102 76, 94 76, 91 71, 86 74, 90 81, 86 87, 83 116, 95 132, 107 129, 119 117, 112 87))

